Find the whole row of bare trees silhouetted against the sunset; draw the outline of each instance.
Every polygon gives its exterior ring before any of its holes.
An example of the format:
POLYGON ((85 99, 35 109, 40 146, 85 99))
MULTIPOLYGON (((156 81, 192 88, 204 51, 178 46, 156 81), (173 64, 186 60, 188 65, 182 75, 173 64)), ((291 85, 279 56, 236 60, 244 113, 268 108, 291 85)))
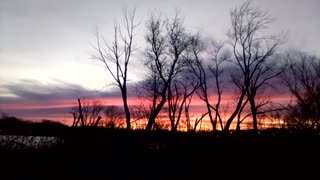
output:
MULTIPOLYGON (((278 120, 280 127, 319 128, 319 58, 282 52, 286 33, 267 33, 273 18, 251 1, 230 11, 231 27, 225 42, 205 40, 200 33, 190 32, 179 13, 170 18, 150 15, 142 58, 147 75, 136 84, 140 103, 129 107, 128 65, 138 24, 135 11, 125 9, 123 14, 123 26, 114 26, 114 40, 107 42, 97 32, 94 46, 93 58, 105 66, 123 100, 123 110, 112 107, 104 111, 107 126, 131 129, 133 122, 144 119, 144 128, 150 131, 163 127, 159 119, 165 117, 172 131, 181 124, 187 131, 196 131, 203 119, 209 119, 213 131, 240 130, 246 121, 258 130, 259 121, 267 117, 278 120), (277 104, 270 99, 276 88, 288 89, 292 103, 277 104), (230 94, 234 104, 226 113, 223 99, 230 94), (204 104, 198 117, 192 114, 195 99, 204 104)), ((79 108, 72 112, 73 126, 98 126, 101 105, 85 107, 83 110, 79 100, 79 108)))

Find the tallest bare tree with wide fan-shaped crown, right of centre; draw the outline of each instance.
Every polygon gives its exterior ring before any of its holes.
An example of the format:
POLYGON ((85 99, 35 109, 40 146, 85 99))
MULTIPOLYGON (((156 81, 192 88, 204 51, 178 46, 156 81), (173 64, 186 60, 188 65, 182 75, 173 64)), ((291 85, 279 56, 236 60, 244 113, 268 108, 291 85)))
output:
POLYGON ((234 76, 233 81, 241 91, 239 99, 243 98, 243 92, 248 98, 255 130, 258 129, 257 92, 270 85, 269 82, 280 74, 273 56, 284 36, 263 34, 263 30, 272 21, 267 12, 252 7, 251 1, 231 11, 232 28, 229 38, 233 49, 233 62, 241 72, 234 76))

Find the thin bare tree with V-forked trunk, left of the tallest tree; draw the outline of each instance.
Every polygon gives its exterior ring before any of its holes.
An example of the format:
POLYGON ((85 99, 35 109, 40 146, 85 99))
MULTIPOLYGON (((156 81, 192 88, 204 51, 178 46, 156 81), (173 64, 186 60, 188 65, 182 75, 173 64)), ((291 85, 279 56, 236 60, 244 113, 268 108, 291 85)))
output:
POLYGON ((222 63, 229 58, 229 55, 226 51, 223 52, 223 43, 213 41, 211 44, 212 49, 209 52, 211 58, 210 61, 207 61, 209 64, 205 64, 204 60, 200 57, 201 52, 204 51, 204 45, 200 40, 200 36, 192 37, 190 44, 191 55, 188 61, 189 67, 200 82, 197 94, 206 104, 207 113, 205 114, 209 116, 213 131, 217 129, 217 122, 219 122, 220 128, 223 129, 223 122, 219 112, 223 91, 220 78, 223 73, 223 69, 221 68, 222 63), (210 100, 209 86, 212 80, 210 75, 213 77, 214 86, 217 91, 217 101, 215 105, 213 105, 212 100, 210 100))

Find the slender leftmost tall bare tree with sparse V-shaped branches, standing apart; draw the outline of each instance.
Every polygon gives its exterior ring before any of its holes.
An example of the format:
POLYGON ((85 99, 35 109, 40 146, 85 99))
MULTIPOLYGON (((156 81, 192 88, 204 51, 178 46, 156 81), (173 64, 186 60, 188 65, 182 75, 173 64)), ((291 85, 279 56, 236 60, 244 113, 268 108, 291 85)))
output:
POLYGON ((138 24, 134 22, 135 9, 129 15, 127 8, 124 8, 123 16, 124 30, 115 22, 114 40, 112 43, 108 43, 104 36, 97 32, 97 44, 93 46, 97 54, 93 58, 104 64, 115 84, 120 88, 124 112, 126 114, 127 129, 130 129, 130 110, 127 101, 128 65, 134 51, 133 37, 138 24))

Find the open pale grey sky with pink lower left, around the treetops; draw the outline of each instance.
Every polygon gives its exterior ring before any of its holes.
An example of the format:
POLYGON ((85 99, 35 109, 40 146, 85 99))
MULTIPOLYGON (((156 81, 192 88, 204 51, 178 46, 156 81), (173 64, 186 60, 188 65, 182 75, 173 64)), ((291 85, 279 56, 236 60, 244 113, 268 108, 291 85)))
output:
MULTIPOLYGON (((136 8, 140 23, 129 70, 129 83, 144 77, 145 21, 158 11, 170 17, 178 10, 184 24, 204 37, 225 40, 230 9, 242 0, 1 0, 0 112, 29 119, 66 120, 77 97, 105 98, 121 104, 110 76, 91 56, 98 29, 107 40, 122 9, 136 8), (48 113, 50 112, 50 113, 48 113)), ((283 50, 320 56, 320 1, 254 0, 275 18, 270 31, 287 32, 283 50)), ((131 89, 130 89, 131 88, 131 89)), ((133 86, 129 98, 135 102, 133 86)))

